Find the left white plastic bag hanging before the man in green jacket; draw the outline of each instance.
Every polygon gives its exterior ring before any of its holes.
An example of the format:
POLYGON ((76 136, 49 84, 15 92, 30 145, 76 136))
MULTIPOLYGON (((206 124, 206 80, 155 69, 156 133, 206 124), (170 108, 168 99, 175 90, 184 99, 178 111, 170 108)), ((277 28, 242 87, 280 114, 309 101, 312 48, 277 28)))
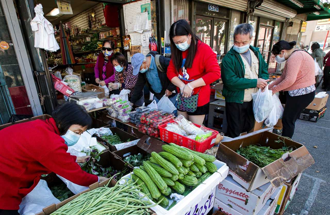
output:
POLYGON ((259 89, 258 92, 252 93, 255 121, 262 122, 269 116, 270 111, 274 107, 272 93, 273 91, 268 90, 268 85, 264 92, 261 92, 261 89, 259 89))

